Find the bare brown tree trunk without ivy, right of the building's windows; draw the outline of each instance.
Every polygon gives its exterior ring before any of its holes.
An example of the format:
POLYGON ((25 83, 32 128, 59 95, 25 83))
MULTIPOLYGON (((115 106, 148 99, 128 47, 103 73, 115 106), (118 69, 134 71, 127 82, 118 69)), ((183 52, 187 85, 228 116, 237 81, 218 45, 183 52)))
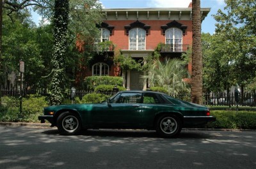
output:
POLYGON ((200 0, 192 0, 192 75, 191 101, 202 105, 202 47, 200 0))

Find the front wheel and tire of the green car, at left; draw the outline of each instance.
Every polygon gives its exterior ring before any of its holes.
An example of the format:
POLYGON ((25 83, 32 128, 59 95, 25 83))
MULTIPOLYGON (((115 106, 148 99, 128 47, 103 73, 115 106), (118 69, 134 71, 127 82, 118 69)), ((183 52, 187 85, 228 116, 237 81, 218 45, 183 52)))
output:
POLYGON ((81 131, 80 117, 64 112, 57 119, 57 128, 61 135, 76 135, 81 131))

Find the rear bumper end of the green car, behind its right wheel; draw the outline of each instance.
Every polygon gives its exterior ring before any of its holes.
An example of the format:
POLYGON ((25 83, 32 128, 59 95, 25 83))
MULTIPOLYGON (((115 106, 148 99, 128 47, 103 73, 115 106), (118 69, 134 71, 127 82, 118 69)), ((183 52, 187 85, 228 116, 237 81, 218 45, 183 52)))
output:
POLYGON ((184 116, 184 127, 194 127, 216 121, 213 116, 184 116))

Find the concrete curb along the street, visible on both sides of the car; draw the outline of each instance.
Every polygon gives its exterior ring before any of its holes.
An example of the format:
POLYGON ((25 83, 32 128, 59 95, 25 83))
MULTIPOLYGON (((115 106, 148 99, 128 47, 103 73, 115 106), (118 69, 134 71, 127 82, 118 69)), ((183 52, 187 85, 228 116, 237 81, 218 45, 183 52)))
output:
MULTIPOLYGON (((36 122, 0 122, 0 126, 32 126, 50 128, 50 123, 36 122)), ((214 129, 214 128, 182 128, 182 130, 202 130, 202 131, 256 131, 255 129, 214 129)))

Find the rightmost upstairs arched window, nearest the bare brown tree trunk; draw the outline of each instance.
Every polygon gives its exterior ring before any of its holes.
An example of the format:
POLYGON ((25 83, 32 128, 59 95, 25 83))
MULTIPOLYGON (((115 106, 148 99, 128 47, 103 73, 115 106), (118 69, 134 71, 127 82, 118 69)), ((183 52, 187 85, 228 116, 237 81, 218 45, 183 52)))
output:
POLYGON ((182 31, 176 27, 167 29, 165 43, 170 45, 173 52, 182 51, 182 31))

